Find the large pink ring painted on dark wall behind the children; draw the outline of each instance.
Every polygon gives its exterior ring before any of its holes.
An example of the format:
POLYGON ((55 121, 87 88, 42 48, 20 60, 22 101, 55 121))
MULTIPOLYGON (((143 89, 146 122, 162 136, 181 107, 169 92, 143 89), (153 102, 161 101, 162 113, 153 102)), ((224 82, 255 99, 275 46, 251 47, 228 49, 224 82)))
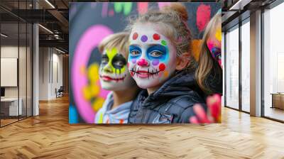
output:
MULTIPOLYGON (((72 89, 73 97, 75 100, 75 105, 80 113, 80 116, 86 123, 94 123, 95 113, 92 109, 91 102, 84 99, 82 89, 87 86, 88 78, 87 75, 82 75, 80 69, 82 67, 87 68, 87 63, 89 62, 89 57, 92 53, 92 50, 99 45, 104 37, 113 33, 111 29, 104 25, 94 25, 89 27, 79 42, 75 49, 73 62, 72 62, 72 89)), ((104 91, 103 91, 104 92, 104 91)), ((106 96, 107 92, 100 93, 100 96, 106 96)))

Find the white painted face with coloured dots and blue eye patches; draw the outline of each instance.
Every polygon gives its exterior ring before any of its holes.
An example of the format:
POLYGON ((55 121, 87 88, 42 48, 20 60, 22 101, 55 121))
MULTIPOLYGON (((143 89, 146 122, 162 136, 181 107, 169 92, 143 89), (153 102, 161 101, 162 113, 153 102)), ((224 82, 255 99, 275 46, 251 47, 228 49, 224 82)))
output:
POLYGON ((139 87, 156 87, 175 72, 176 49, 153 25, 136 25, 130 35, 128 65, 139 87))

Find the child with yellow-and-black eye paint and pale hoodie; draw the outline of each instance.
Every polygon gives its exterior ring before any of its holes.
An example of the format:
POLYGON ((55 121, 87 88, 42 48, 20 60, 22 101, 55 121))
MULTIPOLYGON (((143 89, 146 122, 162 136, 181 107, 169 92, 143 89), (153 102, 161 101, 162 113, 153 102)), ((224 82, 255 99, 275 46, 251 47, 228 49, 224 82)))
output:
POLYGON ((129 33, 115 33, 99 44, 102 61, 99 81, 110 90, 106 101, 96 114, 96 124, 126 124, 138 87, 127 70, 129 33))

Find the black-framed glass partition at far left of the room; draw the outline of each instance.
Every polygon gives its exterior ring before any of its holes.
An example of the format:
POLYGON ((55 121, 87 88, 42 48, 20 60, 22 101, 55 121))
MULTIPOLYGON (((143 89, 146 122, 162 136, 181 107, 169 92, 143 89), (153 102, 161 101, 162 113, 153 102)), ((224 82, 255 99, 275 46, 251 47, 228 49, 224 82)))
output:
MULTIPOLYGON (((13 6, 30 7, 28 1, 13 1, 13 6)), ((31 23, 0 8, 1 127, 32 116, 32 29, 31 23)))

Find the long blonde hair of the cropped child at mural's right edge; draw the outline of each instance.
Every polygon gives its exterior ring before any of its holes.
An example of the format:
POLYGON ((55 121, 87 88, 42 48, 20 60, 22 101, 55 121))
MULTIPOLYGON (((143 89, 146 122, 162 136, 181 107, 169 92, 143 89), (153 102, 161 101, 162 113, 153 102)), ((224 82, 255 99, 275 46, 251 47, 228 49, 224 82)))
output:
POLYGON ((215 74, 214 77, 220 75, 222 76, 222 68, 219 67, 217 61, 214 60, 209 48, 207 47, 207 40, 209 38, 209 35, 211 35, 212 31, 215 31, 217 27, 221 28, 221 23, 221 13, 217 13, 207 24, 200 45, 200 56, 198 60, 198 67, 195 72, 195 77, 197 80, 197 84, 204 92, 207 92, 207 94, 212 93, 212 89, 210 89, 210 86, 207 81, 210 73, 213 71, 215 74))

